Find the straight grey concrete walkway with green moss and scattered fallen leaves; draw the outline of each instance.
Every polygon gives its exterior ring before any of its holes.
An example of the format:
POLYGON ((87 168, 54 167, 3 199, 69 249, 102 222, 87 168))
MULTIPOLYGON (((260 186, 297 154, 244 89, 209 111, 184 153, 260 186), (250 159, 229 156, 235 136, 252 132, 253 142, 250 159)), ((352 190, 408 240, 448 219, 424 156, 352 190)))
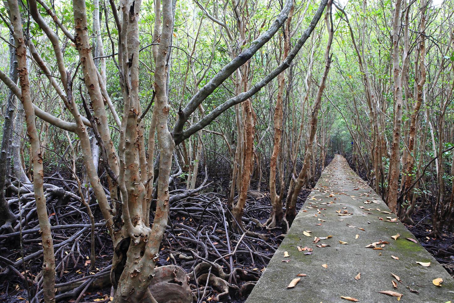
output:
POLYGON ((381 303, 397 302, 402 294, 400 302, 454 303, 454 279, 413 241, 383 200, 336 155, 246 302, 349 302, 344 296, 381 303), (295 278, 301 280, 287 288, 295 278), (441 286, 434 285, 437 278, 441 286))

